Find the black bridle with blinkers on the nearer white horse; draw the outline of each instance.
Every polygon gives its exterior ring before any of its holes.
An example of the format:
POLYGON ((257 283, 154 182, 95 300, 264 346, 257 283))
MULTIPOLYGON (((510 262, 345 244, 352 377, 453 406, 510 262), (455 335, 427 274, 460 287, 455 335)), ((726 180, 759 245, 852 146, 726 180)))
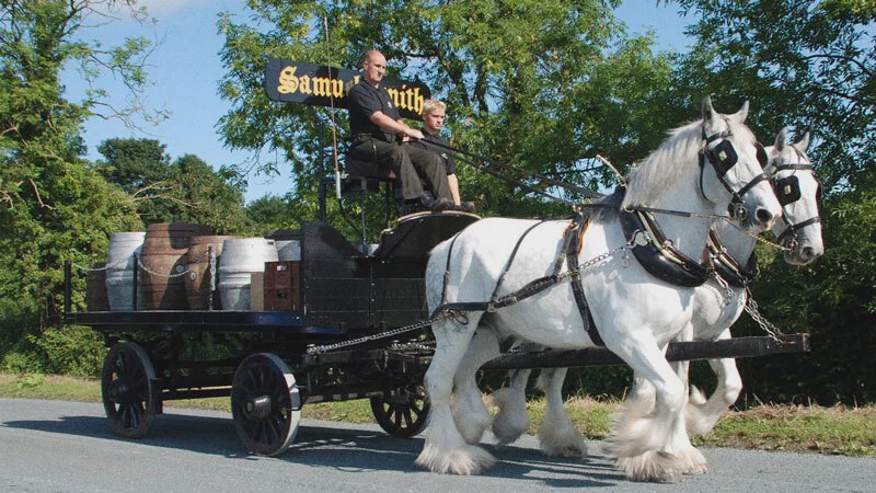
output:
MULTIPOLYGON (((702 131, 705 146, 700 150, 700 194, 703 198, 708 200, 708 197, 705 196, 705 190, 703 188, 703 171, 705 169, 705 161, 708 161, 715 170, 718 182, 733 195, 730 204, 727 206, 727 211, 730 214, 731 218, 741 222, 748 218, 745 205, 742 204, 742 196, 753 188, 754 185, 763 181, 769 181, 770 177, 766 176, 766 173, 760 173, 751 179, 750 182, 746 183, 739 191, 733 190, 724 175, 739 161, 739 154, 736 152, 736 149, 734 149, 733 142, 727 140, 727 137, 731 136, 733 131, 729 129, 729 121, 726 117, 723 118, 727 123, 728 128, 717 134, 707 136, 705 134, 705 125, 703 125, 702 131), (712 146, 716 140, 718 142, 712 146)), ((758 148, 758 162, 762 169, 766 164, 766 151, 760 144, 756 144, 756 147, 758 148)))

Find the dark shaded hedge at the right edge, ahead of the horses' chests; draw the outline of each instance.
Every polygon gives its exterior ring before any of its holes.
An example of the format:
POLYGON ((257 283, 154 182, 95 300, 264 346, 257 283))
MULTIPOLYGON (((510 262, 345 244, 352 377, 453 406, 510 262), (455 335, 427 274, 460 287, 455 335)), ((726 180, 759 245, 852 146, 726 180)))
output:
MULTIPOLYGON (((865 169, 850 185, 853 192, 823 204, 825 256, 805 268, 774 262, 753 286, 763 314, 785 332, 810 333, 812 346, 808 355, 740 364, 748 391, 761 399, 876 400, 876 170, 865 169)), ((734 332, 761 333, 747 319, 734 332)))

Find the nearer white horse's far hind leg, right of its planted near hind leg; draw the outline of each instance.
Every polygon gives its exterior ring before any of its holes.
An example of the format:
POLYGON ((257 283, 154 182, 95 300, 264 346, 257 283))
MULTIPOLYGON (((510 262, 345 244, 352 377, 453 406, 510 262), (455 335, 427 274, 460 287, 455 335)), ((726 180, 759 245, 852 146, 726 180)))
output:
POLYGON ((472 336, 471 345, 453 377, 456 408, 453 421, 457 429, 469 444, 477 444, 489 426, 489 411, 484 405, 477 388, 477 369, 500 354, 495 332, 481 324, 472 336))

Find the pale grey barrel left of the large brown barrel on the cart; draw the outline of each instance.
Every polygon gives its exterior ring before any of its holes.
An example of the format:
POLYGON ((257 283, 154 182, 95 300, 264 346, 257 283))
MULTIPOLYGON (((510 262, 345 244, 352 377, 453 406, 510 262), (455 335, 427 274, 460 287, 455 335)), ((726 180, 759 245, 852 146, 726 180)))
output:
MULTIPOLYGON (((106 298, 112 311, 134 310, 134 254, 142 253, 146 231, 114 232, 106 252, 106 298)), ((142 289, 137 293, 137 309, 143 309, 142 289)))

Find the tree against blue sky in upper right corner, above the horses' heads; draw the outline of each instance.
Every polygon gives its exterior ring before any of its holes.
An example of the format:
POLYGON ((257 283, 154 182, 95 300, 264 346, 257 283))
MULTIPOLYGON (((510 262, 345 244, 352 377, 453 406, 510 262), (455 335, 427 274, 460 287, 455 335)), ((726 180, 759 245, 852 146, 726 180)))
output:
POLYGON ((754 103, 758 135, 814 133, 826 192, 848 188, 876 153, 872 0, 679 0, 698 21, 681 72, 690 84, 754 103), (867 7, 868 5, 868 7, 867 7))

